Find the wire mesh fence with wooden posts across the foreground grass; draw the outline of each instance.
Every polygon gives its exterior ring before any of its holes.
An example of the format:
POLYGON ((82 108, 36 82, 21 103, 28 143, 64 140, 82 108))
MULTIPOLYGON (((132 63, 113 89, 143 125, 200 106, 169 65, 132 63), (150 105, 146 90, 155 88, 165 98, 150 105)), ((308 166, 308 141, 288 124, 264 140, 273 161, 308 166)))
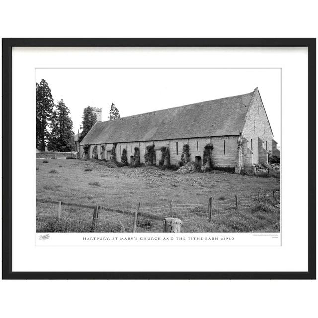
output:
POLYGON ((181 232, 202 232, 202 228, 220 215, 250 212, 257 204, 280 202, 280 191, 271 190, 252 197, 232 197, 206 203, 173 203, 158 207, 138 206, 118 210, 101 205, 37 200, 37 232, 164 232, 163 220, 182 221, 181 232))

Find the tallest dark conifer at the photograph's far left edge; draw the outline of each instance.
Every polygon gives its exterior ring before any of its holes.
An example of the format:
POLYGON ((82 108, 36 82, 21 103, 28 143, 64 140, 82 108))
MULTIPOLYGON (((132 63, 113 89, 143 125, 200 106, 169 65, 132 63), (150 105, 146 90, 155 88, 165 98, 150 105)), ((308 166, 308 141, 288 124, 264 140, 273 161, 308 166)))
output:
POLYGON ((40 84, 36 83, 36 147, 40 151, 45 151, 53 107, 51 89, 47 82, 42 79, 40 84))

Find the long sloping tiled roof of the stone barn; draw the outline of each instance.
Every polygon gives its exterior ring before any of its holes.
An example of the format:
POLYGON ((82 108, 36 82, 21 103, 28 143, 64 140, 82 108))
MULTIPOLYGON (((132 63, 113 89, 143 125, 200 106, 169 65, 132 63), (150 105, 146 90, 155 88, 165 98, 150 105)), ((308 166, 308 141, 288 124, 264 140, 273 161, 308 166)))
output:
POLYGON ((256 91, 99 122, 80 144, 239 135, 256 91))

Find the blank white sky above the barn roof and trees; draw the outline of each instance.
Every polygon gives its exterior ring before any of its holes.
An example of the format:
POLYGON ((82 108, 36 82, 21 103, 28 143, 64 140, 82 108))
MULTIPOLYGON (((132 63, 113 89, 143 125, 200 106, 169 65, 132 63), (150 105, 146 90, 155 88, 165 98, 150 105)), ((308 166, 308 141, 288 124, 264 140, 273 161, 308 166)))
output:
POLYGON ((56 103, 70 109, 77 133, 87 106, 102 108, 108 120, 111 103, 120 116, 246 94, 258 87, 274 139, 281 144, 281 70, 278 68, 51 68, 36 69, 56 103))

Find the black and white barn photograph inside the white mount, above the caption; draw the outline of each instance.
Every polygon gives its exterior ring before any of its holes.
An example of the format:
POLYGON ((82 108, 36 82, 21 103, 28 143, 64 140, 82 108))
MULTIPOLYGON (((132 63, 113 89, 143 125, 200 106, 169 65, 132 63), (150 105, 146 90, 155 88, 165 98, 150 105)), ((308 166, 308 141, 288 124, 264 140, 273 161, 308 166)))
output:
POLYGON ((280 233, 280 68, 37 68, 34 90, 38 233, 280 233))

